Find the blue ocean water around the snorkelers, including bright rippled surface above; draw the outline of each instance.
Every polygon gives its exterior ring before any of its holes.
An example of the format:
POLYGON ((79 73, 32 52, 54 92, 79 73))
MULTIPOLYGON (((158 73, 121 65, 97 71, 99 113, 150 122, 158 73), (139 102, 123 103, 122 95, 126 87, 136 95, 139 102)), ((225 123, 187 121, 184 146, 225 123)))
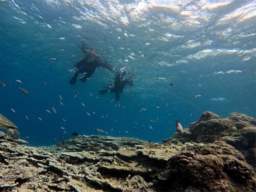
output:
POLYGON ((36 146, 72 132, 161 142, 176 119, 187 127, 204 111, 255 117, 255 9, 253 1, 0 0, 0 113, 36 146), (103 68, 69 83, 81 42, 135 70, 119 101, 98 94, 115 77, 103 68))

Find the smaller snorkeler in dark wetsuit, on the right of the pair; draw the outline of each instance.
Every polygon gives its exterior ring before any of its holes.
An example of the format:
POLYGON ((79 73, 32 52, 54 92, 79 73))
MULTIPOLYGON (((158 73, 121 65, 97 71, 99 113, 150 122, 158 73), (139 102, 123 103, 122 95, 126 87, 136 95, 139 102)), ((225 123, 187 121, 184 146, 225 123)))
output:
POLYGON ((112 92, 112 93, 115 92, 116 100, 119 100, 120 99, 120 93, 122 93, 123 88, 125 87, 125 85, 130 84, 131 86, 133 86, 133 79, 131 77, 126 78, 125 74, 126 74, 125 68, 120 69, 120 72, 118 72, 115 76, 115 82, 112 83, 112 86, 99 91, 99 94, 104 95, 108 91, 112 92))

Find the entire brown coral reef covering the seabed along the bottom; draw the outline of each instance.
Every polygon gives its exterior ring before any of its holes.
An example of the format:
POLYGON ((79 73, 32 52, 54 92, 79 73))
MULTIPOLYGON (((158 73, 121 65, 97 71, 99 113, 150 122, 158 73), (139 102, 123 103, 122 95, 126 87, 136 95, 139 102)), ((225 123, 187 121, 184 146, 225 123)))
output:
POLYGON ((78 136, 31 147, 0 132, 0 191, 255 191, 255 119, 205 112, 148 143, 78 136))

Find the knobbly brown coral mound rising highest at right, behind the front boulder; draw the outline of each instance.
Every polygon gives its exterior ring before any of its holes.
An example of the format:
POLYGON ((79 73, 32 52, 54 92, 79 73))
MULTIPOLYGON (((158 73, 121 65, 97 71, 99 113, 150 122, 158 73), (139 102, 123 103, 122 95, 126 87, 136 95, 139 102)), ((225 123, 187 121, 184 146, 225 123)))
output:
POLYGON ((184 134, 176 133, 164 143, 225 141, 234 146, 246 161, 255 168, 256 120, 244 114, 231 113, 227 118, 205 112, 198 121, 189 125, 184 134))

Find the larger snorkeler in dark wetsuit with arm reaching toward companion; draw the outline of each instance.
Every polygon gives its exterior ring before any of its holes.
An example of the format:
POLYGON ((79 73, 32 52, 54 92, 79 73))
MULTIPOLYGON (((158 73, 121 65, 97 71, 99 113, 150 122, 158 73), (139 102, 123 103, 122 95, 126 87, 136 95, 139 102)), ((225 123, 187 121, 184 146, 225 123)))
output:
MULTIPOLYGON (((82 49, 82 51, 84 53, 84 49, 82 49)), ((81 79, 79 79, 80 81, 85 82, 89 77, 92 76, 97 67, 103 67, 114 72, 113 67, 109 63, 100 60, 95 49, 89 53, 86 53, 84 56, 85 58, 77 62, 74 68, 70 70, 71 72, 75 72, 74 76, 70 80, 71 84, 76 83, 77 77, 80 73, 86 73, 81 79)))

